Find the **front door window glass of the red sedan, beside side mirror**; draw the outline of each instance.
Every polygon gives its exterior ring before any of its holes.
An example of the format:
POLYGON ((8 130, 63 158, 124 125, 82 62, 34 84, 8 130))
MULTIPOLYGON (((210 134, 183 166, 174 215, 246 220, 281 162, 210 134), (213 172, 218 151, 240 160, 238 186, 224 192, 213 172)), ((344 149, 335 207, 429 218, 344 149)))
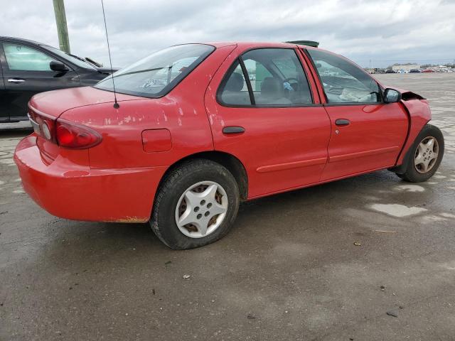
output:
POLYGON ((328 103, 380 102, 378 83, 359 67, 331 53, 307 51, 316 65, 328 103))

